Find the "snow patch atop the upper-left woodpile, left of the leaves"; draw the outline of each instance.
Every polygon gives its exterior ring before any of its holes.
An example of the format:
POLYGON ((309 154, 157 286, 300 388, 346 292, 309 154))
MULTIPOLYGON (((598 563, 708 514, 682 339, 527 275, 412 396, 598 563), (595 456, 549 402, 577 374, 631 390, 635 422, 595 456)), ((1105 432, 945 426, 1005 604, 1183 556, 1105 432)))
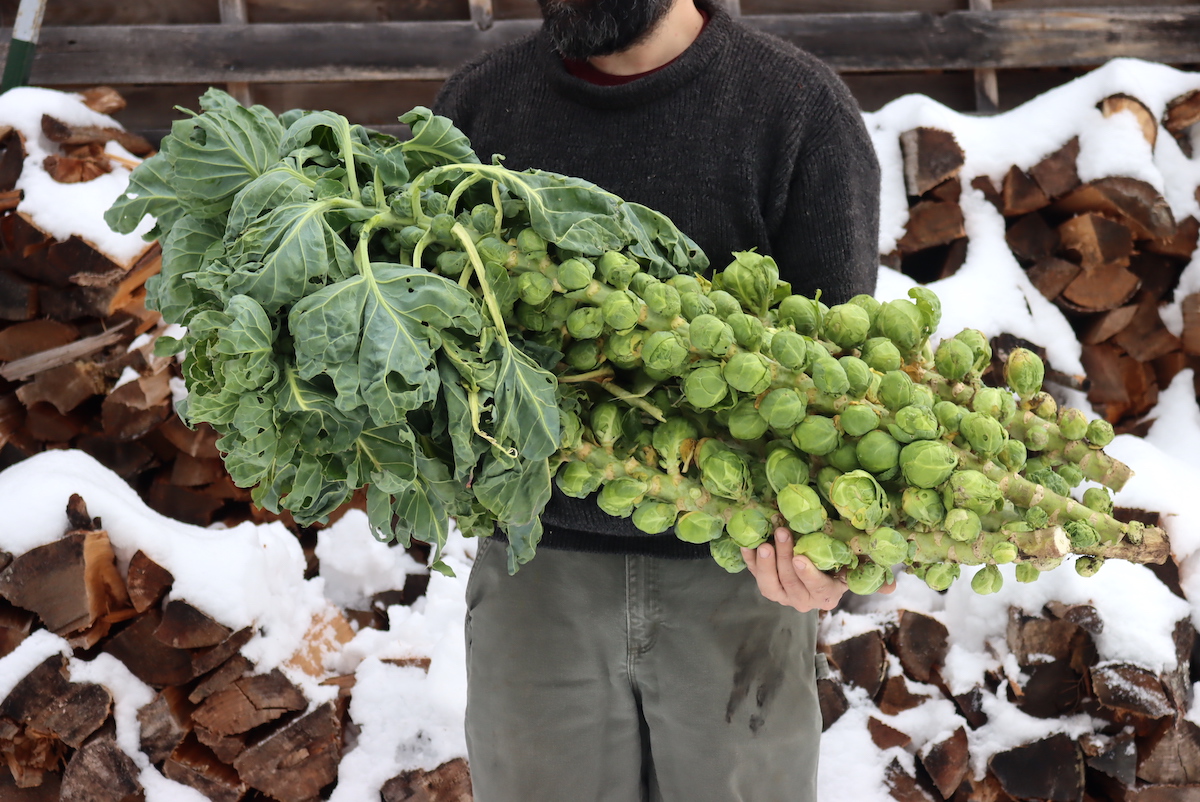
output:
MULTIPOLYGON (((130 170, 114 164, 113 172, 91 181, 59 184, 42 167, 48 155, 61 152, 42 133, 43 114, 70 125, 121 127, 107 114, 84 106, 80 96, 71 92, 20 86, 0 95, 0 125, 11 125, 25 138, 25 163, 17 181, 17 188, 24 190, 25 197, 17 210, 28 214, 38 228, 59 240, 76 234, 118 264, 132 264, 146 249, 142 235, 152 228, 154 221, 149 217, 142 221, 132 234, 118 234, 104 222, 104 211, 128 186, 130 170)), ((106 150, 137 161, 116 143, 108 143, 106 150)))

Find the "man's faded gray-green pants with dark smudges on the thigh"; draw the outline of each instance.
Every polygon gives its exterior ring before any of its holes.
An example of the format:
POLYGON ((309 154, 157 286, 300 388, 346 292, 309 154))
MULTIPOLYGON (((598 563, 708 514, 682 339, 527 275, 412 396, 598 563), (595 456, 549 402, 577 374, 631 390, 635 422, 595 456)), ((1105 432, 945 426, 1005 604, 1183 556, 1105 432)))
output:
POLYGON ((475 802, 816 802, 816 614, 710 559, 487 538, 467 586, 475 802))

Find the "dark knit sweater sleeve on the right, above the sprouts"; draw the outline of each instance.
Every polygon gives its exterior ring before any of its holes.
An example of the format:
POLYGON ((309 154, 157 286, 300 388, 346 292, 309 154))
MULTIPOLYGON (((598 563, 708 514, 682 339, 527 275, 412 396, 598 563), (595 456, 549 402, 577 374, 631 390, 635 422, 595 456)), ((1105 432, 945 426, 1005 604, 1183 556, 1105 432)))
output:
POLYGON ((784 214, 772 237, 780 277, 826 304, 874 293, 878 276, 880 164, 848 92, 806 121, 784 214))

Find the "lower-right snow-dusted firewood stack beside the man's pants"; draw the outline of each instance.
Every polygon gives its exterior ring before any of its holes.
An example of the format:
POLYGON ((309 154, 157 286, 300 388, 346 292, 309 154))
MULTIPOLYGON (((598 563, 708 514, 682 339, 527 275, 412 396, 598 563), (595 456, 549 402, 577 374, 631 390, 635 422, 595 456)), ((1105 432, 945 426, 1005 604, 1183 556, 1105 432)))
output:
MULTIPOLYGON (((845 614, 842 614, 845 615, 845 614)), ((875 614, 874 621, 880 621, 875 614)), ((1040 615, 1009 610, 1012 664, 988 672, 983 687, 954 694, 942 678, 950 633, 934 617, 900 610, 882 626, 840 642, 822 644, 832 677, 818 681, 824 728, 850 710, 850 688, 874 707, 866 729, 886 750, 914 756, 887 767, 898 802, 1188 802, 1200 798, 1200 728, 1187 718, 1190 659, 1196 632, 1175 628, 1178 665, 1156 674, 1129 663, 1098 662, 1094 636, 1104 620, 1087 604, 1049 602, 1040 615), (1063 726, 1018 746, 988 750, 986 772, 976 776, 972 743, 988 735, 985 694, 1008 699, 1027 716, 1062 719, 1063 726), (958 726, 930 736, 930 725, 906 711, 952 702, 958 726), (1066 720, 1090 716, 1092 730, 1072 737, 1066 720), (910 731, 905 731, 908 729, 910 731), (968 736, 970 734, 970 736, 968 736)), ((1009 714, 1009 718, 1012 716, 1009 714)), ((1085 719, 1086 720, 1086 719, 1085 719)), ((997 726, 1003 728, 1004 724, 997 726)), ((998 736, 1006 740, 1006 734, 998 736)))

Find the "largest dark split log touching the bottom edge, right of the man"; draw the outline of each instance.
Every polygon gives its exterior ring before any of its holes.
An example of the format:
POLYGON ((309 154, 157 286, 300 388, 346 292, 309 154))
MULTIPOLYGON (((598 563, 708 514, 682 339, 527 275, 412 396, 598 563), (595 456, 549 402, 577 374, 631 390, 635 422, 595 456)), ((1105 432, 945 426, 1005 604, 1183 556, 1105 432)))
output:
POLYGON ((1082 752, 1070 736, 1061 732, 1000 752, 988 766, 1001 788, 1016 798, 1079 802, 1084 792, 1082 752))

